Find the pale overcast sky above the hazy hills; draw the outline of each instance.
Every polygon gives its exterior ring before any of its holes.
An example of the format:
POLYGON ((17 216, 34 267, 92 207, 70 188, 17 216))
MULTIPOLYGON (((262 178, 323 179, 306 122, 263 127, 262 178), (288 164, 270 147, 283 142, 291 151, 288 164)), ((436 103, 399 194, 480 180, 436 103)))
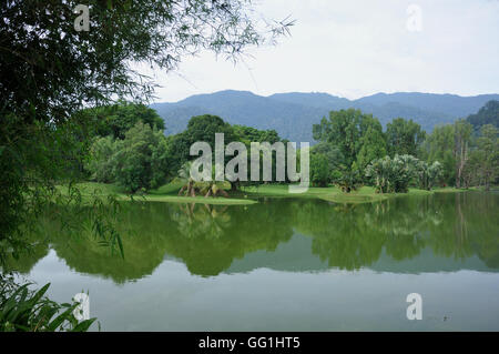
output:
POLYGON ((211 52, 180 70, 154 71, 155 102, 245 90, 327 92, 348 99, 377 92, 499 93, 499 0, 264 0, 266 18, 296 20, 275 47, 244 62, 211 52))

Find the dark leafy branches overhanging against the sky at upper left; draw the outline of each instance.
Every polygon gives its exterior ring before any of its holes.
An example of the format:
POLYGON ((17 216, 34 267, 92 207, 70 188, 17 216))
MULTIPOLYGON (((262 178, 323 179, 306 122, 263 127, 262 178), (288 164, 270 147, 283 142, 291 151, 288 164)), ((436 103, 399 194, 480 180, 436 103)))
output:
POLYGON ((263 18, 252 0, 89 0, 90 30, 75 31, 79 2, 0 3, 0 72, 9 77, 0 84, 1 109, 59 121, 83 102, 143 100, 155 84, 134 63, 171 71, 202 50, 238 60, 294 23, 263 18))

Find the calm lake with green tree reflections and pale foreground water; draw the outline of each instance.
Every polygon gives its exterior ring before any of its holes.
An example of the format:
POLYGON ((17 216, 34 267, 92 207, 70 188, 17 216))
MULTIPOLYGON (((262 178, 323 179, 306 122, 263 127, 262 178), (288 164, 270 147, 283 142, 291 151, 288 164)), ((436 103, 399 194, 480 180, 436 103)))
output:
POLYGON ((103 331, 499 331, 499 193, 258 201, 123 203, 124 260, 45 220, 12 266, 103 331))

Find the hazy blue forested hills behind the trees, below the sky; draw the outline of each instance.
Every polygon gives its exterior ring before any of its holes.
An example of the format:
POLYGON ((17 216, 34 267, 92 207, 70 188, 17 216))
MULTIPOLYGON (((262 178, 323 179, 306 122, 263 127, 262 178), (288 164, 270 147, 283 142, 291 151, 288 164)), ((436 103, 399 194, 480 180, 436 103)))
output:
POLYGON ((499 94, 459 97, 404 92, 348 100, 328 93, 294 92, 261 97, 230 90, 151 107, 165 120, 167 134, 183 131, 191 117, 210 113, 220 115, 231 124, 275 129, 281 136, 299 142, 312 141, 312 125, 334 110, 360 109, 377 117, 383 125, 398 117, 413 119, 429 132, 437 124, 477 113, 490 100, 499 100, 499 94))

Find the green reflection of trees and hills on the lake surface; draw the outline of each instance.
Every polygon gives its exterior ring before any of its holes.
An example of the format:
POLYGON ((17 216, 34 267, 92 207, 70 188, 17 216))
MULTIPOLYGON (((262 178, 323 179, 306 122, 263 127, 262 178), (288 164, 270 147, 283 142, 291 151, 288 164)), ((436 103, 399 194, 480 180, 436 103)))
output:
POLYGON ((51 247, 74 271, 116 283, 152 274, 172 257, 202 276, 271 263, 295 272, 387 270, 388 263, 393 272, 422 272, 429 264, 431 271, 493 271, 499 269, 498 211, 499 194, 478 192, 359 205, 306 199, 248 206, 128 203, 120 214, 124 260, 44 220, 41 232, 30 236, 38 242, 34 252, 11 260, 10 267, 28 273, 51 247), (249 256, 255 253, 259 256, 249 256), (409 260, 418 265, 409 269, 409 260))

